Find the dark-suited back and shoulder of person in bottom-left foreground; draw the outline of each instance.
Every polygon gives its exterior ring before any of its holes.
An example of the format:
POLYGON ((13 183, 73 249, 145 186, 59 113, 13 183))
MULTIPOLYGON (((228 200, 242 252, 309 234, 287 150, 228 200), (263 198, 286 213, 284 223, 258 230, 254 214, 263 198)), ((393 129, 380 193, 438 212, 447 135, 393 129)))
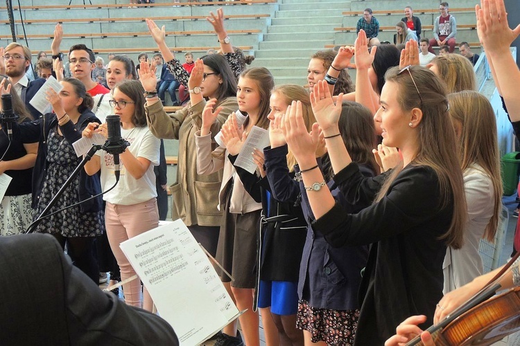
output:
POLYGON ((105 293, 51 235, 0 237, 0 345, 179 345, 168 322, 105 293))

